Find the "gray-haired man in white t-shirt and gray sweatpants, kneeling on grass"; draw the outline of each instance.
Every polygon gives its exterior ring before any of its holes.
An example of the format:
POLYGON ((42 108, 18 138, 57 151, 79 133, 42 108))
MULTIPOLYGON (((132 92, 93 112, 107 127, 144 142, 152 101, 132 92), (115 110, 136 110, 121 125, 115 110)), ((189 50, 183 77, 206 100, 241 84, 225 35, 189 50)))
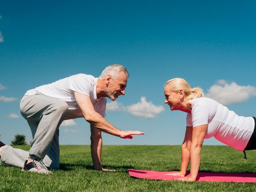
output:
POLYGON ((0 142, 1 160, 22 170, 51 173, 48 168, 59 168, 59 126, 63 120, 84 117, 91 124, 93 165, 111 171, 101 165, 101 131, 124 139, 144 134, 119 130, 104 119, 106 97, 116 100, 124 95, 128 76, 125 67, 115 64, 106 67, 99 78, 77 74, 27 91, 20 111, 32 132, 31 148, 24 151, 0 142))

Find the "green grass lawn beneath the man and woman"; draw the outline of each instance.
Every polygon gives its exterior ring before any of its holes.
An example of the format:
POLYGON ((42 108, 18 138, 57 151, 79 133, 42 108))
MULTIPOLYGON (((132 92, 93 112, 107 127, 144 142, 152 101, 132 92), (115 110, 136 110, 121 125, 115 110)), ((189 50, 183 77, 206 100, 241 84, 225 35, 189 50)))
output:
MULTIPOLYGON (((28 150, 29 146, 17 146, 28 150)), ((246 191, 255 192, 254 183, 214 183, 157 181, 130 177, 128 168, 170 171, 179 170, 180 146, 103 146, 102 163, 115 173, 93 170, 90 146, 63 145, 60 170, 51 175, 21 172, 19 167, 0 166, 0 192, 5 191, 246 191)), ((256 173, 256 151, 241 151, 227 146, 203 146, 201 172, 256 173)))

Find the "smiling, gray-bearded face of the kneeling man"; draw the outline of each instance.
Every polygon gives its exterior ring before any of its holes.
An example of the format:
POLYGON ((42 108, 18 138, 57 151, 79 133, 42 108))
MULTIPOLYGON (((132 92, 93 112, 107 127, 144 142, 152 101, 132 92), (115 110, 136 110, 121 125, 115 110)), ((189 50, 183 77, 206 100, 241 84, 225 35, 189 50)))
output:
POLYGON ((107 97, 114 101, 119 97, 119 95, 124 95, 126 85, 127 76, 123 71, 121 71, 117 77, 110 79, 107 87, 107 97))

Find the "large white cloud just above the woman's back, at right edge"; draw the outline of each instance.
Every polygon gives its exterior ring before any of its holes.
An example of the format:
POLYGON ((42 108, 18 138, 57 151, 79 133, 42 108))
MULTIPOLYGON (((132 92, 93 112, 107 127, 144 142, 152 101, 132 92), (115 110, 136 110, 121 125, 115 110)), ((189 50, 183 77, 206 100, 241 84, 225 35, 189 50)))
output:
POLYGON ((242 86, 235 82, 227 83, 225 80, 219 80, 210 87, 205 96, 217 100, 223 105, 229 105, 240 103, 256 96, 256 87, 251 85, 242 86))

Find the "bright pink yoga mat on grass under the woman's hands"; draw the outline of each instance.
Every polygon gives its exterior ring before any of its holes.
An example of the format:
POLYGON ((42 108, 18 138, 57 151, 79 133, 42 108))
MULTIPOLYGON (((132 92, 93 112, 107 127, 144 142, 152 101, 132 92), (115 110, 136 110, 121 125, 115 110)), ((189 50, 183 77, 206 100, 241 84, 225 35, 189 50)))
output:
MULTIPOLYGON (((129 175, 141 179, 156 180, 176 180, 180 176, 166 175, 177 171, 159 172, 128 169, 129 175)), ((189 173, 186 174, 188 176, 189 173)), ((198 173, 197 181, 206 182, 238 182, 238 183, 254 183, 256 182, 255 173, 198 173)))

